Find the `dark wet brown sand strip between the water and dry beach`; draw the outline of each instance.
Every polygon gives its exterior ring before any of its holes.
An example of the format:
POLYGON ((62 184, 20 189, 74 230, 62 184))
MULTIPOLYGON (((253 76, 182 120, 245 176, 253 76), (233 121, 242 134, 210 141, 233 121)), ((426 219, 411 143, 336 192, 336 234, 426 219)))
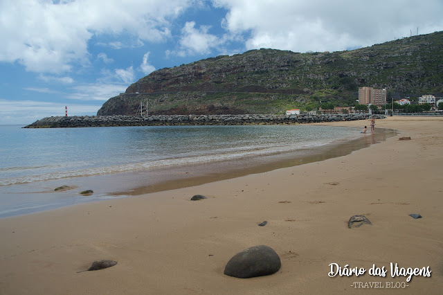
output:
MULTIPOLYGON (((246 175, 270 172, 281 168, 289 168, 317 161, 325 161, 335 157, 343 157, 356 150, 369 147, 372 144, 386 141, 387 138, 395 136, 397 131, 379 128, 377 134, 367 134, 361 138, 355 138, 344 143, 336 141, 327 145, 315 147, 314 149, 296 150, 294 152, 281 152, 278 154, 261 155, 257 159, 248 157, 246 159, 228 160, 213 163, 196 164, 175 170, 175 178, 157 181, 154 184, 145 184, 130 188, 129 190, 109 193, 109 195, 144 195, 147 193, 158 193, 163 190, 174 190, 190 186, 209 184, 215 181, 234 179, 246 175), (238 168, 240 166, 240 168, 238 168)), ((169 173, 165 170, 165 173, 169 173)), ((138 173, 133 173, 138 174, 138 173)), ((143 175, 144 172, 139 172, 143 175)), ((143 176, 141 176, 143 177, 143 176)), ((168 178, 168 175, 164 175, 168 178)))

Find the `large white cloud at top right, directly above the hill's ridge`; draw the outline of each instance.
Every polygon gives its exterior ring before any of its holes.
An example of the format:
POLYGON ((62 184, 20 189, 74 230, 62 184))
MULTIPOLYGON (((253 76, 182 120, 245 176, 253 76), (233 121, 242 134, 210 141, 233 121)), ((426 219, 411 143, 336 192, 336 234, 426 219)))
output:
POLYGON ((228 9, 223 26, 246 34, 246 48, 341 51, 370 46, 410 30, 443 27, 443 1, 213 0, 228 9), (424 17, 426 16, 426 17, 424 17))

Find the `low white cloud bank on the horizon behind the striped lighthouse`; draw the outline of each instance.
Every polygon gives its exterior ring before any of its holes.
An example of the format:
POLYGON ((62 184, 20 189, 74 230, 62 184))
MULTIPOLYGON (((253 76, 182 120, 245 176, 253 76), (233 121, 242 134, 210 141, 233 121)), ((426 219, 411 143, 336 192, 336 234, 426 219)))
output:
POLYGON ((41 102, 35 100, 0 99, 0 125, 26 125, 44 117, 64 116, 64 107, 68 107, 69 116, 96 115, 101 105, 65 104, 59 102, 41 102))

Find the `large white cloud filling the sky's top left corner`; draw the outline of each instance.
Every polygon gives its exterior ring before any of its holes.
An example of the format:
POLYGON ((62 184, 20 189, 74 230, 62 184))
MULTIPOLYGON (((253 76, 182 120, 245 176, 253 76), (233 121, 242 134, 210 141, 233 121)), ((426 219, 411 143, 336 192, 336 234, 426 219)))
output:
MULTIPOLYGON (((170 21, 192 0, 0 1, 0 62, 19 62, 27 71, 63 73, 87 63, 93 35, 131 35, 160 42, 170 37, 170 21)), ((114 46, 122 46, 114 42, 114 46)))

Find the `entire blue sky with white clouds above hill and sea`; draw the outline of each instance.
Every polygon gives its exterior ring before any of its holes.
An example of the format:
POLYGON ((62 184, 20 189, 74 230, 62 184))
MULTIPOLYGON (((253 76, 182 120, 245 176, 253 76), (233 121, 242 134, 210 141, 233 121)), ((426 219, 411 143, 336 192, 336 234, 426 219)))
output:
POLYGON ((442 0, 0 0, 0 124, 94 115, 156 69, 443 30, 442 0))

